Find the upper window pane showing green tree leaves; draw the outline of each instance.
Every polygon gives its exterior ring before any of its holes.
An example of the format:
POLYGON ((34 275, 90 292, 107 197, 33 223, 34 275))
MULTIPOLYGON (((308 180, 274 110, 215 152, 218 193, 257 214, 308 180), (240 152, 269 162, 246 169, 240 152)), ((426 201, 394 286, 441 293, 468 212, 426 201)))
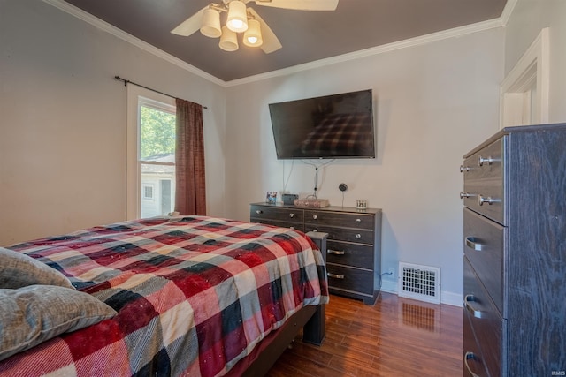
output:
MULTIPOLYGON (((175 114, 141 106, 140 156, 142 161, 175 154, 175 114)), ((174 159, 173 161, 174 162, 174 159)))

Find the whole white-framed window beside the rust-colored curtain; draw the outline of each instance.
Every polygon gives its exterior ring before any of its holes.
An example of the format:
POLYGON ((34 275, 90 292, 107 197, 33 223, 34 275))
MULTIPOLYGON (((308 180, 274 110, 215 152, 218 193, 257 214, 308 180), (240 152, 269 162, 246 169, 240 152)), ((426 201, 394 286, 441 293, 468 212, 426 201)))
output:
POLYGON ((175 102, 128 86, 128 219, 166 215, 175 198, 175 102))

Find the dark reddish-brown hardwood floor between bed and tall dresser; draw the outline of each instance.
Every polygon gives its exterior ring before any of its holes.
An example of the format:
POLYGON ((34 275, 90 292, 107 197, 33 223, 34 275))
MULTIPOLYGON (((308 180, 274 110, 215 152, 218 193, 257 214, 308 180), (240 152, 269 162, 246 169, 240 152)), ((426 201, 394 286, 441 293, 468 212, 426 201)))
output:
POLYGON ((297 336, 267 374, 462 376, 463 309, 381 293, 376 305, 331 296, 321 347, 297 336))

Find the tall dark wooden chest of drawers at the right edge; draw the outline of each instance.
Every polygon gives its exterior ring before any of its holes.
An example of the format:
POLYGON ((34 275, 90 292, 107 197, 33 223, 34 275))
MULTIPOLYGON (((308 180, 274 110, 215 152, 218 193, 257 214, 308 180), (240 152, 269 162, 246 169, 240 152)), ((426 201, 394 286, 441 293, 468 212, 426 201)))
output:
POLYGON ((566 374, 566 124, 464 155, 463 371, 566 374))

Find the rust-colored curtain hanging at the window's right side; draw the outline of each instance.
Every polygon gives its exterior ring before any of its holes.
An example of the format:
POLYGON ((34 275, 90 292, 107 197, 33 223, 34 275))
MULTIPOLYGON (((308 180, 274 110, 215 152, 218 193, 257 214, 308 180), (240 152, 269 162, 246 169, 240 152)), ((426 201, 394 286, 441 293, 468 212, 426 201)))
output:
POLYGON ((175 211, 206 215, 203 106, 176 99, 175 211))

